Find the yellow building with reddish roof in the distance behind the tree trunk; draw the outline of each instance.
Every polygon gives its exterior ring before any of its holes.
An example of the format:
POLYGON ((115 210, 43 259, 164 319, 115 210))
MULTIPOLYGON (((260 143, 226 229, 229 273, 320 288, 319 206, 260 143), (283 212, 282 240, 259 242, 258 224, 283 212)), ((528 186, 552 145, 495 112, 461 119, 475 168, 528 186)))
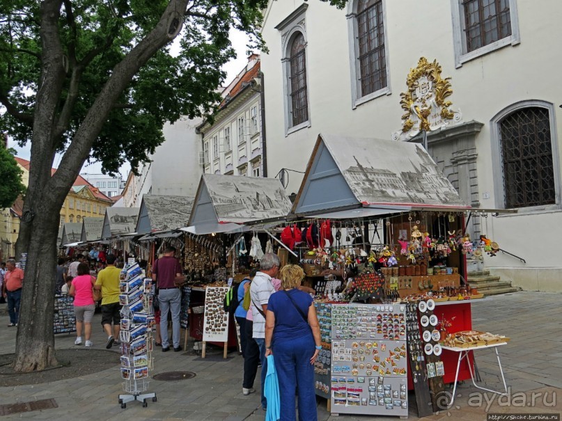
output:
MULTIPOLYGON (((17 164, 23 170, 22 183, 29 183, 29 161, 15 157, 17 164)), ((54 173, 55 169, 52 170, 54 173)), ((59 227, 65 222, 81 223, 84 216, 102 218, 105 208, 113 205, 113 201, 100 192, 79 175, 66 196, 61 208, 59 227)), ((19 235, 19 219, 22 216, 22 198, 17 198, 12 207, 2 209, 0 215, 0 261, 5 262, 15 253, 15 241, 19 235)))

